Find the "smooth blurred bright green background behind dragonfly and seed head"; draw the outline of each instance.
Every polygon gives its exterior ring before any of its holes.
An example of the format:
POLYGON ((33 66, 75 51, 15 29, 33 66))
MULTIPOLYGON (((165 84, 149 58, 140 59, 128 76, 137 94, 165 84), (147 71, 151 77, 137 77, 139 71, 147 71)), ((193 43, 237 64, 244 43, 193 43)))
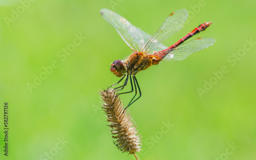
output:
MULTIPOLYGON (((150 34, 169 13, 187 9, 185 27, 163 42, 168 46, 213 22, 191 39, 214 37, 214 45, 137 75, 142 97, 128 110, 142 135, 141 160, 255 159, 256 1, 21 2, 25 9, 19 1, 0 2, 0 159, 135 159, 114 146, 99 105, 98 88, 119 80, 110 72, 111 62, 131 54, 101 17, 101 8, 150 34), (65 57, 68 47, 73 52, 65 57), (44 75, 50 65, 55 68, 44 75), (228 71, 217 79, 213 72, 223 66, 228 71), (40 75, 41 82, 35 80, 40 75), (34 80, 38 85, 29 89, 34 80), (214 84, 204 86, 206 81, 214 84), (198 88, 206 90, 199 94, 198 88), (8 157, 4 102, 9 103, 8 157)), ((122 96, 124 105, 132 96, 122 96)))

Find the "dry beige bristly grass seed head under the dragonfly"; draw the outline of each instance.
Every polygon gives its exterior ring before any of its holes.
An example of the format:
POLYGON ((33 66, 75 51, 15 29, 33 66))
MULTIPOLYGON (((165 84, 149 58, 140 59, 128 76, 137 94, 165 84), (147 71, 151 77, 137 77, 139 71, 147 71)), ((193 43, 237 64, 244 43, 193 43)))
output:
POLYGON ((100 90, 100 95, 103 100, 102 110, 110 123, 108 126, 111 127, 112 137, 116 139, 114 144, 122 152, 129 152, 129 154, 139 152, 141 150, 140 135, 136 135, 138 131, 131 116, 126 111, 123 112, 123 104, 115 90, 100 90))

